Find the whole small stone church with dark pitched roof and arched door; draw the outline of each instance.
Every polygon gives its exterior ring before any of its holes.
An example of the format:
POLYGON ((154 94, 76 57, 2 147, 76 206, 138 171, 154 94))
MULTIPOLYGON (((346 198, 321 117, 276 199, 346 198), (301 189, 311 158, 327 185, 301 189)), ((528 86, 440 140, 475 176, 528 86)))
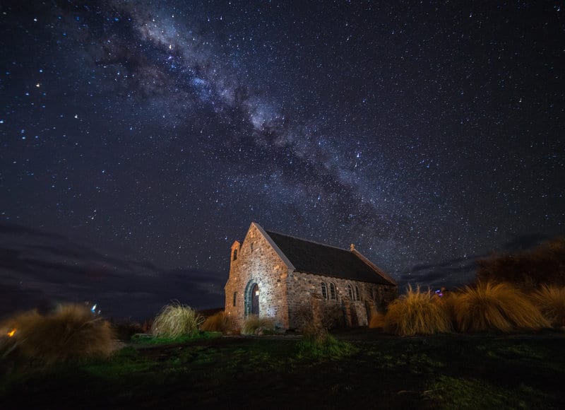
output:
POLYGON ((251 223, 232 245, 225 312, 241 325, 270 317, 282 329, 309 322, 365 326, 397 295, 396 281, 355 250, 263 230, 251 223))

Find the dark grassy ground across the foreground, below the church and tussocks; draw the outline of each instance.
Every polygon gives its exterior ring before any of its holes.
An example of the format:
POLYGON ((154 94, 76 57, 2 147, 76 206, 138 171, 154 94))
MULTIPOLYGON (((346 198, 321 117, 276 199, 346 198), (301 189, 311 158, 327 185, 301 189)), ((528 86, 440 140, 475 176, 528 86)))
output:
POLYGON ((4 363, 0 409, 565 409, 565 335, 339 334, 345 357, 290 336, 128 346, 110 361, 4 363))

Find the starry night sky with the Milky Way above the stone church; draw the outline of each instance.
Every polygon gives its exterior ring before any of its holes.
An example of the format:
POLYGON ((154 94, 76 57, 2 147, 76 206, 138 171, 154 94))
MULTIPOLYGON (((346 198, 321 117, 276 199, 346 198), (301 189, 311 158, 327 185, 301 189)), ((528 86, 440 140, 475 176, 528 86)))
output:
POLYGON ((558 1, 2 1, 0 313, 223 305, 251 221, 423 286, 565 232, 558 1))

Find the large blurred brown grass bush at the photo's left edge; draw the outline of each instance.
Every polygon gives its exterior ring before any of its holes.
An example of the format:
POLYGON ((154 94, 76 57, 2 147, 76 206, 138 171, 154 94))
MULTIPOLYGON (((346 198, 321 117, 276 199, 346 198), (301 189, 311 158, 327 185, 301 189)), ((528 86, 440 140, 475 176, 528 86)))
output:
POLYGON ((109 356, 116 346, 109 322, 85 305, 59 305, 47 315, 37 310, 20 313, 6 320, 1 328, 14 330, 3 344, 4 355, 16 351, 46 364, 109 356))

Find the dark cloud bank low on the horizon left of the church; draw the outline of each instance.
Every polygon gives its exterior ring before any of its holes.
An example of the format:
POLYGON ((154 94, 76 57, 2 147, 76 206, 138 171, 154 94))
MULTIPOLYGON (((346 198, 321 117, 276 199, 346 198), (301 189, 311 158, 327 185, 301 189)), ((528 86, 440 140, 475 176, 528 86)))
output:
POLYGON ((88 301, 97 303, 105 315, 141 320, 153 317, 171 300, 197 308, 224 303, 226 279, 215 272, 160 269, 18 225, 0 224, 0 241, 0 315, 88 301))

